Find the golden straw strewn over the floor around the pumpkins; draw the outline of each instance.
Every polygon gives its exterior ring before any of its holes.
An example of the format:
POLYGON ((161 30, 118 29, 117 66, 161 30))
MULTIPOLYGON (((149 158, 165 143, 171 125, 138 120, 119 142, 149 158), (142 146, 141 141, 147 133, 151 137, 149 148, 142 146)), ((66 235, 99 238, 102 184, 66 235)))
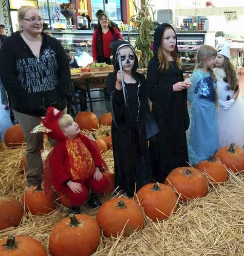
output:
MULTIPOLYGON (((108 128, 95 131, 97 138, 108 128)), ((26 187, 20 174, 25 146, 0 151, 0 192, 2 196, 20 198, 26 187)), ((104 155, 110 168, 112 150, 104 155)), ((109 198, 106 196, 105 199, 109 198)), ((82 212, 95 217, 96 211, 84 206, 82 212)), ((0 239, 8 234, 32 236, 48 248, 52 227, 67 216, 59 206, 49 215, 25 213, 19 227, 0 231, 0 239)), ((102 238, 94 256, 243 256, 244 255, 244 175, 229 172, 223 186, 209 189, 207 196, 189 204, 179 204, 170 218, 154 223, 148 218, 140 233, 128 238, 102 238)))

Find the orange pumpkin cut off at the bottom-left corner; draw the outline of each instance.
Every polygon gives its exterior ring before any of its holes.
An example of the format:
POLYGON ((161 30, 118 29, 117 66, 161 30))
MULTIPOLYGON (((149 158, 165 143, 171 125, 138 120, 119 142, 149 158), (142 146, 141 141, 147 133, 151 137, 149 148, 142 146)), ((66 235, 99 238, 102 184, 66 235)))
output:
POLYGON ((0 256, 47 256, 46 249, 29 236, 12 236, 0 241, 0 256))

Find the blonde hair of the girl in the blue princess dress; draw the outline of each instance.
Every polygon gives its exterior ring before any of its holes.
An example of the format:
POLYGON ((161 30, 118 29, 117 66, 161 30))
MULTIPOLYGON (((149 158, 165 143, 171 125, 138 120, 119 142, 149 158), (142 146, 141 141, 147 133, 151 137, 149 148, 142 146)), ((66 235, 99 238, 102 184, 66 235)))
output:
MULTIPOLYGON (((204 64, 206 62, 206 60, 208 58, 212 58, 214 56, 217 56, 218 55, 218 52, 217 50, 210 46, 210 45, 207 45, 207 44, 203 44, 199 49, 198 49, 198 52, 197 52, 197 65, 195 67, 195 69, 201 69, 204 67, 204 64)), ((212 71, 212 68, 208 67, 207 68, 207 71, 210 73, 211 77, 212 77, 212 81, 214 83, 217 82, 217 79, 212 71)))

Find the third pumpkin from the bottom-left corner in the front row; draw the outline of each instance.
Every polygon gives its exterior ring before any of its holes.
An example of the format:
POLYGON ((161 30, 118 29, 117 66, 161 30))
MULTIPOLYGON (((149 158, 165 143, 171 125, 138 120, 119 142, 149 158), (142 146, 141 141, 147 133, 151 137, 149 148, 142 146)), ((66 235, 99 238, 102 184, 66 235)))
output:
POLYGON ((141 230, 144 216, 140 206, 129 198, 113 198, 106 201, 98 210, 96 219, 106 237, 129 236, 141 230))

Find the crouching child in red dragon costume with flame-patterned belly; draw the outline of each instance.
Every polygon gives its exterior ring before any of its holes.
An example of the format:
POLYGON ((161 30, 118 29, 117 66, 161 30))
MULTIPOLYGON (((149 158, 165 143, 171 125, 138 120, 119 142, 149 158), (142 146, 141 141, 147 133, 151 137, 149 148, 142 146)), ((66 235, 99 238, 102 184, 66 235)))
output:
MULTIPOLYGON (((100 206, 98 194, 106 191, 109 182, 100 171, 107 166, 95 141, 80 133, 80 128, 72 116, 62 115, 54 107, 47 109, 40 126, 49 137, 57 140, 43 167, 45 191, 49 190, 53 184, 57 192, 68 196, 72 204, 69 211, 77 214, 80 206, 89 197, 88 186, 90 186, 92 192, 89 205, 100 206), (46 163, 51 165, 51 179, 50 173, 45 174, 49 169, 46 168, 46 163)), ((40 127, 32 132, 37 130, 40 131, 40 127)))

